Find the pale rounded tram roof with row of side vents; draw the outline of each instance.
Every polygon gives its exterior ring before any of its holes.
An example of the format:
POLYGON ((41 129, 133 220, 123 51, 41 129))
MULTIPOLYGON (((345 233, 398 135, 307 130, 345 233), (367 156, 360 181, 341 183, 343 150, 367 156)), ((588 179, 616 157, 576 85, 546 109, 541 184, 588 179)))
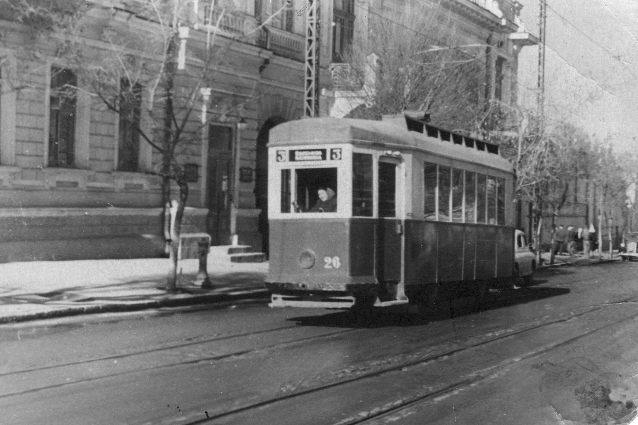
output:
MULTIPOLYGON (((392 121, 374 121, 369 119, 318 117, 288 121, 272 128, 269 137, 270 146, 288 145, 317 145, 317 144, 359 144, 375 147, 399 147, 410 150, 426 151, 448 158, 479 163, 487 167, 500 168, 512 171, 512 165, 498 153, 487 151, 486 142, 474 138, 464 138, 471 141, 468 146, 466 140, 461 140, 459 135, 449 131, 436 129, 437 136, 427 133, 434 127, 427 126, 429 131, 420 133, 408 131, 407 126, 401 126, 392 121), (441 140, 441 133, 447 133, 447 140, 441 140), (484 145, 484 151, 477 149, 478 144, 484 145)), ((496 145, 491 145, 496 146, 496 145)), ((494 149, 491 149, 494 151, 494 149)), ((498 147, 496 149, 498 152, 498 147)))

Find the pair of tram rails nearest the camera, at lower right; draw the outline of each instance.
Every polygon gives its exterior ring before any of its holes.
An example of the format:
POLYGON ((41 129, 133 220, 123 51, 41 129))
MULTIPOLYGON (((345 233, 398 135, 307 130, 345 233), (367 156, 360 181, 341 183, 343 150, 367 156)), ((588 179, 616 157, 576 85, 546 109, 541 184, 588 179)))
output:
MULTIPOLYGON (((627 299, 621 299, 619 301, 615 301, 612 304, 619 304, 619 303, 623 303, 623 302, 629 302, 629 301, 635 301, 634 297, 630 297, 627 299)), ((503 341, 504 339, 509 339, 509 338, 515 338, 517 336, 520 336, 522 334, 526 334, 528 332, 532 332, 532 331, 537 331, 539 329, 542 329, 544 327, 548 327, 551 325, 556 325, 556 324, 560 324, 563 322, 568 322, 570 320, 573 320, 574 318, 578 318, 578 317, 583 317, 586 315, 589 315, 591 313, 595 313, 597 311, 599 311, 600 309, 604 309, 607 308, 608 306, 612 305, 612 304, 602 304, 599 306, 595 306, 592 307, 590 309, 586 309, 584 311, 579 311, 578 313, 574 313, 571 315, 567 315, 565 317, 561 317, 561 318, 557 318, 555 320, 550 320, 549 322, 544 322, 542 324, 538 324, 538 325, 534 325, 531 327, 526 327, 524 329, 520 329, 518 331, 514 331, 514 332, 508 332, 507 334, 500 334, 498 336, 495 336, 494 338, 489 338, 486 339, 484 341, 479 341, 477 343, 471 343, 468 345, 464 345, 463 347, 459 347, 455 350, 448 350, 446 352, 441 352, 438 353, 436 355, 433 355, 431 357, 427 357, 427 358, 422 358, 419 359, 419 361, 412 361, 412 362, 403 362, 401 364, 397 364, 396 366, 392 366, 390 368, 383 368, 380 370, 374 370, 374 371, 370 371, 369 373, 362 373, 356 377, 350 377, 350 378, 342 378, 341 380, 337 381, 337 382, 332 382, 330 384, 326 384, 326 385, 320 385, 317 387, 311 387, 309 389, 305 389, 303 391, 299 391, 299 392, 294 392, 293 394, 286 394, 284 396, 279 396, 279 397, 275 397, 275 398, 271 398, 271 399, 267 399, 267 400, 263 400, 260 401, 258 403, 253 403, 251 405, 246 405, 246 406, 239 406, 237 408, 235 408, 234 410, 229 410, 227 412, 222 412, 219 414, 210 414, 209 417, 203 419, 203 418, 198 418, 198 419, 194 419, 194 420, 187 420, 187 421, 178 421, 175 423, 179 423, 180 425, 197 425, 197 424, 208 424, 208 423, 216 423, 216 421, 219 420, 225 420, 225 419, 231 419, 234 415, 239 415, 239 414, 245 414, 246 412, 250 412, 250 411, 256 411, 258 409, 262 409, 262 408, 267 408, 267 407, 272 407, 274 405, 277 405, 278 403, 282 403, 285 401, 291 401, 293 399, 296 398, 302 398, 305 396, 315 396, 315 398, 317 397, 317 394, 320 394, 322 391, 328 391, 330 389, 335 389, 338 387, 341 387, 343 385, 348 385, 348 384, 352 384, 353 382, 358 382, 358 381, 364 381, 364 380, 369 380, 372 378, 379 378, 382 377, 385 374, 388 373, 394 373, 397 371, 402 371, 403 369, 406 368, 413 368, 415 366, 425 366, 427 364, 431 364, 443 359, 447 359, 449 357, 453 357, 455 355, 459 355, 463 352, 466 352, 467 350, 471 350, 471 349, 475 349, 475 348, 479 348, 479 347, 487 347, 487 345, 496 343, 498 341, 503 341)), ((382 417, 383 415, 388 415, 388 414, 392 414, 392 412, 397 412, 401 409, 406 409, 406 408, 410 408, 410 406, 421 403, 424 400, 427 399, 432 399, 432 398, 436 398, 436 397, 440 397, 440 396, 445 396, 445 394, 449 394, 452 391, 457 391, 459 389, 464 389, 466 387, 469 387, 470 385, 475 385, 478 384, 479 382, 481 382, 482 380, 486 380, 488 378, 490 378, 491 376, 495 375, 497 372, 494 371, 495 369, 498 369, 499 371, 502 370, 503 368, 507 368, 508 366, 512 366, 513 364, 515 364, 518 361, 521 360, 526 360, 526 359, 532 359, 534 357, 538 357, 540 355, 543 355, 551 350, 555 350, 557 348, 563 347, 565 345, 568 345, 570 343, 573 343, 574 341, 577 341, 580 338, 584 338, 590 334, 593 334, 595 332, 601 331, 602 329, 605 329, 607 327, 612 327, 614 325, 617 325, 621 322, 625 322, 628 320, 634 320, 638 318, 638 313, 632 314, 629 317, 624 317, 621 318, 620 320, 616 320, 614 322, 611 322, 609 324, 605 324, 603 326, 600 327, 596 327, 595 329, 592 329, 591 331, 588 332, 584 332, 582 334, 579 334, 577 336, 575 336, 574 338, 570 338, 567 339, 565 341, 560 341, 558 343, 552 343, 549 345, 545 345, 544 347, 540 348, 539 350, 533 350, 532 352, 529 352, 525 355, 523 355, 522 357, 516 357, 514 359, 507 359, 503 362, 500 362, 499 364, 496 364, 494 366, 491 366, 490 368, 484 369, 482 371, 480 371, 478 374, 475 374, 474 378, 471 379, 464 379, 464 380, 460 380, 457 382, 454 382, 452 384, 447 384, 441 388, 438 389, 434 389, 433 391, 427 391, 425 394, 417 394, 417 396, 415 396, 414 398, 411 399, 406 399, 406 400, 395 400, 395 401, 390 401, 389 403, 387 403, 386 405, 381 406, 380 408, 376 409, 374 412, 371 413, 367 413, 367 412, 362 412, 360 414, 355 414, 355 415, 351 415, 350 417, 343 419, 342 421, 338 421, 338 422, 334 422, 334 424, 331 425, 355 425, 355 424, 364 424, 367 423, 368 421, 371 421, 373 419, 377 419, 379 417, 382 417)), ((182 412, 183 413, 183 412, 182 412)), ((199 415, 199 412, 197 413, 197 415, 199 415)))

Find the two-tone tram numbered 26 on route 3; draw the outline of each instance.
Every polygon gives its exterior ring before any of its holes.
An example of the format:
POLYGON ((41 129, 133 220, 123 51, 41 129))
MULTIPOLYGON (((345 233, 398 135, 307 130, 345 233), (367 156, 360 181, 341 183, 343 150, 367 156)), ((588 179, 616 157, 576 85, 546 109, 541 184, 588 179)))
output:
POLYGON ((271 130, 271 306, 433 305, 513 277, 512 166, 410 116, 271 130))

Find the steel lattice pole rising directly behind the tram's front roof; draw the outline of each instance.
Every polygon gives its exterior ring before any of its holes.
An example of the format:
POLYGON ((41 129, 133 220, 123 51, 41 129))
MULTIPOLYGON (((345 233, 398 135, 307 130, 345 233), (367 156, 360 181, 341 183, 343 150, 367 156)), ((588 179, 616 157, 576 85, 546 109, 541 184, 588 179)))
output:
POLYGON ((309 0, 306 15, 304 117, 319 116, 319 2, 309 0))

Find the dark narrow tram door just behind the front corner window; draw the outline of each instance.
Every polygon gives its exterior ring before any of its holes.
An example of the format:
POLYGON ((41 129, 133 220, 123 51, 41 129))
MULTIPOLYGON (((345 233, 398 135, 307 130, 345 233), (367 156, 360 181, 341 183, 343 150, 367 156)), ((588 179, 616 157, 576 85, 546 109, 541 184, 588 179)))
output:
POLYGON ((378 224, 376 229, 376 278, 379 282, 401 281, 403 223, 399 219, 402 190, 401 163, 390 158, 379 161, 378 224))

